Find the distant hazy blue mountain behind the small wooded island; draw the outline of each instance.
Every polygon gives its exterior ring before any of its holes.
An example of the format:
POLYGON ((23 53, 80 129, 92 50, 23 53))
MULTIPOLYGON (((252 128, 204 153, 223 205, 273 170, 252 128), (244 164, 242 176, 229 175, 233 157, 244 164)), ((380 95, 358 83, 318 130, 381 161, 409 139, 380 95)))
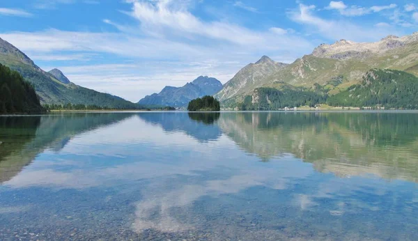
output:
POLYGON ((182 87, 166 86, 160 93, 147 95, 139 100, 138 103, 143 105, 187 107, 191 100, 201 98, 204 95, 214 95, 221 89, 222 83, 219 80, 200 76, 182 87))

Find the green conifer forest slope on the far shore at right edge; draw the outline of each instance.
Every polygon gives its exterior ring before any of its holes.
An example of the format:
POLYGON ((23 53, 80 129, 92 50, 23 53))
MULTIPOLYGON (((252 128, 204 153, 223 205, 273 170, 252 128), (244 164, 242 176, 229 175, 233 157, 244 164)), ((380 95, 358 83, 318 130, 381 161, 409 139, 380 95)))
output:
POLYGON ((418 109, 418 77, 398 70, 370 70, 361 83, 330 96, 339 107, 418 109))

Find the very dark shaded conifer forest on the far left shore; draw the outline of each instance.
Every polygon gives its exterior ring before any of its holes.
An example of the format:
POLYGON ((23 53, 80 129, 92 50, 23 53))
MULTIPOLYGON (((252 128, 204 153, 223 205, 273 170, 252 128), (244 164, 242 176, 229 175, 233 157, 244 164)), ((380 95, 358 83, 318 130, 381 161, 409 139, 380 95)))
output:
POLYGON ((0 114, 45 111, 33 86, 18 72, 0 64, 0 114))

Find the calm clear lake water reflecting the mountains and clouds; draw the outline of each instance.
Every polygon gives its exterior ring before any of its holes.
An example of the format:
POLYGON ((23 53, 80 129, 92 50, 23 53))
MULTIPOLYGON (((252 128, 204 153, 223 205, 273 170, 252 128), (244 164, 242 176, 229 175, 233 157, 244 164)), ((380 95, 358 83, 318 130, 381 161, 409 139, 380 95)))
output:
POLYGON ((0 240, 418 240, 418 113, 0 117, 0 240))

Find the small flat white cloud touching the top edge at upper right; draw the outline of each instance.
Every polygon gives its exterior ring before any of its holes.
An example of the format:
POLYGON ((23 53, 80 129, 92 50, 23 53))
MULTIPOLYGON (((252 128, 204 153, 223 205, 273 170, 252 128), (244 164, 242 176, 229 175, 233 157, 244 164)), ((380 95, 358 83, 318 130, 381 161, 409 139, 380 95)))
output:
POLYGON ((329 6, 327 6, 325 9, 328 10, 338 10, 341 15, 344 16, 362 16, 369 13, 378 13, 382 10, 392 9, 396 8, 396 4, 392 3, 387 6, 371 6, 370 8, 364 8, 361 6, 346 6, 343 1, 330 1, 329 6))

